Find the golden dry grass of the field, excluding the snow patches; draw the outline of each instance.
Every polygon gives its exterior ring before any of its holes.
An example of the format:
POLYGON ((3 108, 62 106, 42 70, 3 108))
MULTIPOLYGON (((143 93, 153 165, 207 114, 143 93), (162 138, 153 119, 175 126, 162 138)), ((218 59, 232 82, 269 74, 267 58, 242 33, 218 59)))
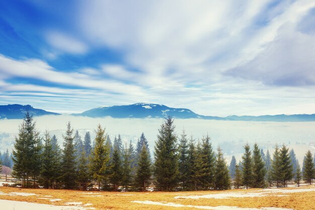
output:
MULTIPOLYGON (((315 188, 314 186, 299 187, 301 188, 315 188)), ((285 188, 288 189, 288 188, 285 188)), ((290 188, 291 189, 291 188, 290 188)), ((148 205, 134 203, 131 201, 157 201, 157 202, 172 202, 180 203, 184 205, 205 205, 205 206, 239 206, 239 207, 282 207, 292 209, 315 209, 315 191, 311 192, 296 192, 288 193, 286 196, 276 196, 282 193, 270 193, 268 196, 263 197, 242 197, 242 198, 226 198, 226 199, 215 199, 215 198, 199 198, 199 199, 175 199, 174 197, 181 195, 203 195, 213 193, 225 193, 225 192, 249 192, 260 189, 249 189, 249 190, 226 190, 226 191, 190 191, 190 192, 97 192, 99 194, 85 194, 84 191, 76 190, 50 190, 50 189, 20 189, 12 187, 0 187, 0 191, 4 193, 10 192, 26 192, 35 193, 32 196, 10 196, 1 195, 0 199, 17 200, 17 201, 28 201, 34 203, 45 203, 53 205, 65 205, 66 202, 82 202, 93 203, 89 207, 95 207, 96 209, 191 209, 189 207, 172 207, 172 206, 161 206, 161 205, 148 205), (129 194, 127 196, 126 194, 129 194), (45 197, 50 195, 52 197, 45 197), (99 197, 92 197, 91 195, 101 195, 99 197), (60 201, 50 201, 49 198, 55 199, 60 198, 60 201)))

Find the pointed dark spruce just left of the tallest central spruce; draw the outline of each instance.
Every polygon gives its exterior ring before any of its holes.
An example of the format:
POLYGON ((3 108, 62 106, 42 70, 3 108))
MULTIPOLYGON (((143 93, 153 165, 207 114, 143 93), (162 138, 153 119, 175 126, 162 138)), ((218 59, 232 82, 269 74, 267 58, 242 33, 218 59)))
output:
POLYGON ((145 191, 151 177, 151 160, 149 157, 149 151, 144 144, 140 152, 137 166, 135 176, 136 185, 145 191))

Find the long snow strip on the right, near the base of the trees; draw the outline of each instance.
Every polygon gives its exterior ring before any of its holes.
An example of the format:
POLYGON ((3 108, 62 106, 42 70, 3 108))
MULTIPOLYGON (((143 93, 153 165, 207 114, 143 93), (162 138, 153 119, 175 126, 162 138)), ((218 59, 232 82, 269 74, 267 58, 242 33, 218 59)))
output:
MULTIPOLYGON (((263 197, 269 196, 271 193, 294 193, 294 192, 312 192, 315 191, 315 188, 299 188, 299 189, 262 189, 249 192, 225 192, 225 193, 212 193, 205 195, 188 195, 188 196, 176 196, 175 199, 180 198, 190 198, 190 199, 199 199, 199 198, 215 198, 215 199, 225 199, 231 197, 263 197)), ((286 196, 283 194, 275 194, 274 196, 286 196)))

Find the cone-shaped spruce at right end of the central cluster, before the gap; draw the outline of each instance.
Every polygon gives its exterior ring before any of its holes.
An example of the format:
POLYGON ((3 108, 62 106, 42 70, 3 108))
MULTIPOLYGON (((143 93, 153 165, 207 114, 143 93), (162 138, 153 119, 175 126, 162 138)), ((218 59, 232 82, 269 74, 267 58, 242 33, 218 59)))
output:
POLYGON ((223 158, 223 153, 220 147, 218 147, 218 153, 216 155, 215 162, 215 189, 224 190, 230 188, 230 177, 228 175, 228 169, 223 158))

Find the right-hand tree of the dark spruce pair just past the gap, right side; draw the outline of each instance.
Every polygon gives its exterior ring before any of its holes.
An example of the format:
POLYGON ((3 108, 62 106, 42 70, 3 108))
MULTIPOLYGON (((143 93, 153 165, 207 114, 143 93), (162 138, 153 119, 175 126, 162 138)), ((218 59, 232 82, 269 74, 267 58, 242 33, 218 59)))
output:
POLYGON ((261 157, 258 145, 255 143, 253 150, 253 187, 263 188, 265 185, 265 163, 261 157))

